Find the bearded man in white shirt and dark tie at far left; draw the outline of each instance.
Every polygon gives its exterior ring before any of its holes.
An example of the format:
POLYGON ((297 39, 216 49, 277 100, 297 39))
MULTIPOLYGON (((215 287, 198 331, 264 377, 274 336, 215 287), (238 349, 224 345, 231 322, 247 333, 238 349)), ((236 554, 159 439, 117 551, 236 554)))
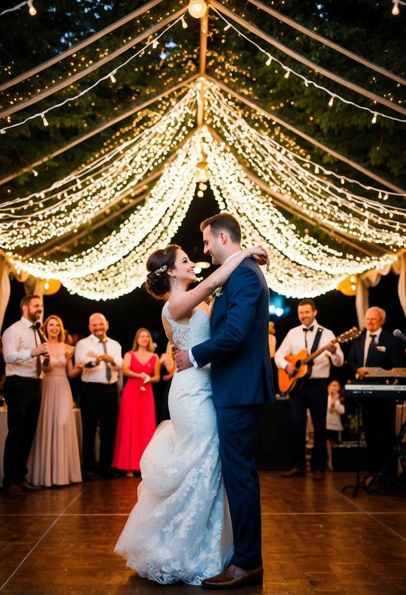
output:
POLYGON ((48 352, 41 343, 36 323, 42 314, 42 302, 37 295, 21 300, 22 316, 2 337, 6 364, 4 398, 7 403, 8 434, 4 447, 3 491, 9 496, 23 496, 40 490, 26 480, 27 459, 35 434, 41 404, 41 356, 48 352))

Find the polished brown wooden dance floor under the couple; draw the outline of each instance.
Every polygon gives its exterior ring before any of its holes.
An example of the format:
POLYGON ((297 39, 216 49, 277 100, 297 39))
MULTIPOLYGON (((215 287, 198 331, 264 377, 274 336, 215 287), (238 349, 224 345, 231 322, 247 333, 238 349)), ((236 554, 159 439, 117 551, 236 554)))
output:
MULTIPOLYGON (((406 492, 352 498, 355 474, 295 480, 261 471, 263 587, 241 595, 404 595, 406 492)), ((0 494, 4 595, 210 593, 139 578, 113 553, 139 478, 98 480, 24 497, 0 494)))

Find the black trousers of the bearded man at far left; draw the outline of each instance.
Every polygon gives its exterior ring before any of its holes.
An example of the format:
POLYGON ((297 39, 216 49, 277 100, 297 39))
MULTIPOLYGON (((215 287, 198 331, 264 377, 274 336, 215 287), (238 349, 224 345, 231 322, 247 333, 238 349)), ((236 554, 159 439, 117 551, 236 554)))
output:
POLYGON ((8 376, 4 383, 8 434, 4 446, 3 486, 25 480, 27 459, 37 427, 41 405, 39 378, 8 376))

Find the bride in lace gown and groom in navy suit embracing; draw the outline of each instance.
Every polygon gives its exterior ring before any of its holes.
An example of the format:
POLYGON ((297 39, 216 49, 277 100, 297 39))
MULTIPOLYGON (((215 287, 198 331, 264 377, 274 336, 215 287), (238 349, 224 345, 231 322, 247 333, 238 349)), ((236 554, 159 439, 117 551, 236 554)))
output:
POLYGON ((264 406, 275 399, 269 291, 258 266, 268 255, 241 249, 232 215, 210 217, 201 230, 204 253, 221 266, 193 289, 195 264, 179 246, 156 250, 146 263, 147 291, 165 300, 177 371, 171 419, 142 455, 138 503, 115 552, 161 584, 229 589, 263 582, 253 454, 264 406))

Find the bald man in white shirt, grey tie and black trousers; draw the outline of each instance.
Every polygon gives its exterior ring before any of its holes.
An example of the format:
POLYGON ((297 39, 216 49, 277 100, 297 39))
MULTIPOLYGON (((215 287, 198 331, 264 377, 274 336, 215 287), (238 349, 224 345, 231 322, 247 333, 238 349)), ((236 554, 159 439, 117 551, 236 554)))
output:
POLYGON ((96 312, 89 318, 90 335, 77 342, 74 358, 83 364, 80 411, 83 429, 83 479, 95 480, 95 436, 100 422, 100 475, 117 477, 111 469, 117 424, 118 372, 123 364, 120 343, 107 337, 108 321, 96 312))

